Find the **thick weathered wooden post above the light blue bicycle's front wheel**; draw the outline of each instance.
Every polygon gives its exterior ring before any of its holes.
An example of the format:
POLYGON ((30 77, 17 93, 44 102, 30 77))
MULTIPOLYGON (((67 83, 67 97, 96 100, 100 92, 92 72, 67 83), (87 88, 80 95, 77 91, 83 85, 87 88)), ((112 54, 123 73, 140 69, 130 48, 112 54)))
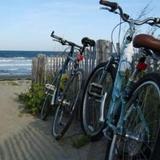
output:
POLYGON ((112 43, 106 40, 97 40, 96 43, 96 65, 106 62, 112 53, 112 43))

